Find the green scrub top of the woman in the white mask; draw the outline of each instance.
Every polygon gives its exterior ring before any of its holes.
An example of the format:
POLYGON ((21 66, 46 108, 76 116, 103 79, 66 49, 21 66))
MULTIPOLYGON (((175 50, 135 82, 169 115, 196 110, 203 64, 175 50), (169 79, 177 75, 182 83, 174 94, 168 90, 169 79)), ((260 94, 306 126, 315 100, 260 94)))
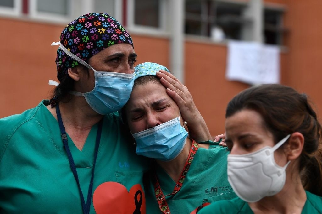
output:
MULTIPOLYGON (((322 214, 322 197, 306 192, 307 200, 304 204, 302 214, 322 214)), ((217 201, 201 210, 197 214, 253 214, 254 212, 249 207, 248 203, 240 198, 235 198, 230 201, 217 201)))

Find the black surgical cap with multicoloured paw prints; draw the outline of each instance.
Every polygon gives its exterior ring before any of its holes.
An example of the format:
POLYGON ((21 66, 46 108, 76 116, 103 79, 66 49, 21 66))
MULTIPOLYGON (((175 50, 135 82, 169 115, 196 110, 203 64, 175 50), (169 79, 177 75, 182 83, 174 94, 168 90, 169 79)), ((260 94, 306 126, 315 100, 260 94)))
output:
MULTIPOLYGON (((132 38, 128 32, 107 13, 88 13, 78 17, 62 31, 60 42, 67 50, 85 62, 111 45, 128 43, 133 46, 132 38)), ((68 68, 78 64, 61 48, 58 48, 56 66, 59 81, 67 74, 68 68)))

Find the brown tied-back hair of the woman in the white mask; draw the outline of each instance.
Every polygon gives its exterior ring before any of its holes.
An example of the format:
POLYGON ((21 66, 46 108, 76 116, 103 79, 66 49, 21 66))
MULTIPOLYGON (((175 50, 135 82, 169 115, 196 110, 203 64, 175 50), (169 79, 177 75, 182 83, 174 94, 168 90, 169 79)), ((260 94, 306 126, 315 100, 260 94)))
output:
POLYGON ((286 135, 300 132, 304 146, 299 170, 304 188, 322 196, 321 124, 306 94, 279 84, 253 86, 228 103, 226 118, 243 109, 258 112, 277 143, 286 135))

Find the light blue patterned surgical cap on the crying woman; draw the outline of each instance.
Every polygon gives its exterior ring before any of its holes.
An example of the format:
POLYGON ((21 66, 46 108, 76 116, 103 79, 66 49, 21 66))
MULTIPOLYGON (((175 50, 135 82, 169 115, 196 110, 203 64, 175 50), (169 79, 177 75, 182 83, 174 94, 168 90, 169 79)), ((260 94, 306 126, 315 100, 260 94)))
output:
POLYGON ((157 63, 145 62, 142 64, 138 64, 134 68, 134 73, 135 73, 134 78, 137 79, 139 77, 146 76, 146 75, 156 75, 156 72, 159 71, 160 69, 170 73, 170 71, 165 66, 157 63))

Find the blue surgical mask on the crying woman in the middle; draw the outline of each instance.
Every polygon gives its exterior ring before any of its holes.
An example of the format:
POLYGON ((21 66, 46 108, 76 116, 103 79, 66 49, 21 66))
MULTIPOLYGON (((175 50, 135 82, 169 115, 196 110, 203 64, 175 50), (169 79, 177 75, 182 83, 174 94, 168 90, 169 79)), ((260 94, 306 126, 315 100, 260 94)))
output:
POLYGON ((175 119, 132 135, 137 142, 138 155, 171 161, 183 150, 188 132, 180 124, 179 113, 175 119))

